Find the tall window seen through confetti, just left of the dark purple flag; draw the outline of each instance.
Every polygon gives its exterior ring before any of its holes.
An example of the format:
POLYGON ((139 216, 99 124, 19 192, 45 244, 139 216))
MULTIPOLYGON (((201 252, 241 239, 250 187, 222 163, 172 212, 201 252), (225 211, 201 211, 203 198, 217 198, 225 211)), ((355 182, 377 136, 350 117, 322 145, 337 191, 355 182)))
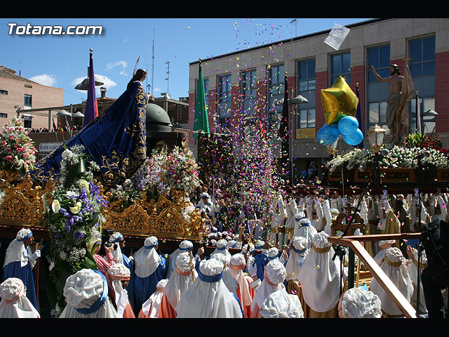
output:
POLYGON ((273 65, 269 67, 269 84, 268 84, 268 125, 272 131, 274 139, 279 138, 279 126, 281 123, 282 107, 281 100, 284 96, 285 72, 283 65, 273 65))

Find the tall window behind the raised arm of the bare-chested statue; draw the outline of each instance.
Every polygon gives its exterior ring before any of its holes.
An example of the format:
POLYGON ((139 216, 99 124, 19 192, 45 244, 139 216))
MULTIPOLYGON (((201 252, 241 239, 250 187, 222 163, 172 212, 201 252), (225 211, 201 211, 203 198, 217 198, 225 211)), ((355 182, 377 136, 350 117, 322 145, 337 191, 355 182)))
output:
POLYGON ((368 67, 366 67, 368 87, 368 113, 366 114, 366 131, 373 128, 376 124, 389 134, 387 126, 387 99, 389 96, 389 84, 387 82, 379 82, 375 79, 374 74, 370 71, 369 65, 373 65, 380 77, 390 76, 390 46, 389 44, 374 46, 367 49, 368 67))

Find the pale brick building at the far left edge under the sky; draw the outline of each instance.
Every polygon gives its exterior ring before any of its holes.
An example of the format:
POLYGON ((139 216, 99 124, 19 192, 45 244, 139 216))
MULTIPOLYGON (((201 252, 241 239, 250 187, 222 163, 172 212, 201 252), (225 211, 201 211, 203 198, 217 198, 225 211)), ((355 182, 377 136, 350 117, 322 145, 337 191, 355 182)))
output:
POLYGON ((48 128, 48 112, 27 113, 41 107, 64 105, 64 89, 43 86, 0 65, 0 124, 19 117, 28 128, 48 128))

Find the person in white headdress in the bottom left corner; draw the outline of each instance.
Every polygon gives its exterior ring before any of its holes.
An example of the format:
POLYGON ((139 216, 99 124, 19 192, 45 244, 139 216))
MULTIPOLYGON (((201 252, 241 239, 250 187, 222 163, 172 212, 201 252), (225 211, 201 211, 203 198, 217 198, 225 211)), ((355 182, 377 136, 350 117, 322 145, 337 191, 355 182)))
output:
POLYGON ((40 318, 29 301, 25 285, 17 277, 9 277, 0 284, 0 318, 40 318))

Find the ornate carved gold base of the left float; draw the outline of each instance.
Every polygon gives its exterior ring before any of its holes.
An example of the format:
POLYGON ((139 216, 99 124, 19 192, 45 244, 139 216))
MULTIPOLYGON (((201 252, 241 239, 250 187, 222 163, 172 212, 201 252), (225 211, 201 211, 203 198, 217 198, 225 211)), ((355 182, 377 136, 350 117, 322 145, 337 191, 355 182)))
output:
MULTIPOLYGON (((6 178, 7 173, 0 175, 6 178)), ((29 177, 17 184, 8 181, 10 180, 0 181, 0 190, 4 192, 0 206, 0 225, 42 227, 42 198, 45 196, 47 204, 51 204, 46 192, 54 190, 53 180, 49 180, 44 187, 34 186, 29 177)), ((182 212, 189 206, 189 202, 184 201, 182 195, 183 192, 172 191, 170 195, 161 194, 158 199, 147 199, 146 194, 142 194, 141 199, 126 209, 122 209, 121 200, 110 202, 103 213, 106 222, 102 227, 125 235, 199 240, 200 213, 192 211, 187 220, 182 212)))

